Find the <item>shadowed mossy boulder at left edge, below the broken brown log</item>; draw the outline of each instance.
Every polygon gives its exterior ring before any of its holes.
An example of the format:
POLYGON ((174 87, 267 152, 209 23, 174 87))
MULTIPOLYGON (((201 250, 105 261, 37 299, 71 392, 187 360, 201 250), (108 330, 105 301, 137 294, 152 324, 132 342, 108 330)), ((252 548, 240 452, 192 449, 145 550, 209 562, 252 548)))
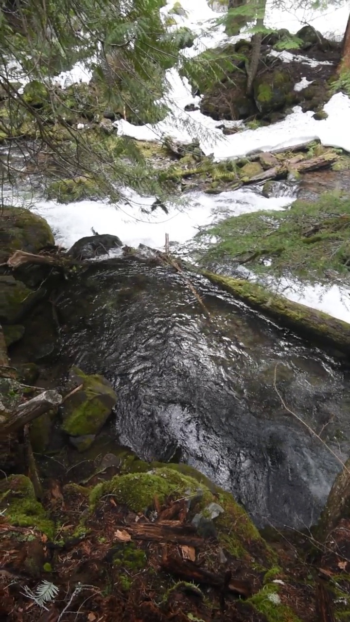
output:
POLYGON ((0 321, 16 324, 41 297, 11 275, 0 276, 0 321))

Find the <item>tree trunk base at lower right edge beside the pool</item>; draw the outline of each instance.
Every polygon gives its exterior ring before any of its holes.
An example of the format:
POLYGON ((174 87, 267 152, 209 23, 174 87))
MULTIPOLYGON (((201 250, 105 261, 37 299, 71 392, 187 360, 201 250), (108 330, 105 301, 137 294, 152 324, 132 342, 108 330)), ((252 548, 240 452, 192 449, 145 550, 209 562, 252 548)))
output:
POLYGON ((350 458, 338 473, 319 519, 316 536, 325 541, 342 518, 350 516, 350 458))

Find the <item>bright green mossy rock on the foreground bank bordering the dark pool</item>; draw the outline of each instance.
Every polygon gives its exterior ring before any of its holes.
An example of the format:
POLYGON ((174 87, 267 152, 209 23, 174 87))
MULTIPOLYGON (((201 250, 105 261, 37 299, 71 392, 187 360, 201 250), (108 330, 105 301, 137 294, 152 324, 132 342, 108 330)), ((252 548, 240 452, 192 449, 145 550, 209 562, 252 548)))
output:
POLYGON ((240 559, 255 559, 270 567, 275 555, 263 541, 245 510, 235 502, 232 494, 210 485, 210 482, 207 486, 205 482, 208 480, 205 476, 191 467, 185 468, 191 475, 181 473, 182 468, 179 467, 182 466, 184 465, 158 466, 147 473, 117 475, 110 481, 100 483, 90 493, 92 511, 98 511, 100 499, 106 494, 112 494, 118 504, 137 513, 153 508, 154 498, 162 505, 169 498, 196 497, 195 509, 191 506, 191 511, 196 513, 210 503, 219 503, 224 512, 215 519, 215 531, 225 550, 240 559), (199 489, 201 494, 198 494, 199 489))

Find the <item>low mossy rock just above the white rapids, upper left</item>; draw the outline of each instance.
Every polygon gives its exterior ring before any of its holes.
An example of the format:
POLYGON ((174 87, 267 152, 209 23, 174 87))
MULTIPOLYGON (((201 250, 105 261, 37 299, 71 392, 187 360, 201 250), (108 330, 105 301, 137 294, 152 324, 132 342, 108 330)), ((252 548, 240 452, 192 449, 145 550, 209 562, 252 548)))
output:
POLYGON ((105 193, 98 184, 88 177, 60 179, 52 182, 47 187, 46 195, 48 199, 55 200, 57 203, 73 203, 105 197, 105 193))

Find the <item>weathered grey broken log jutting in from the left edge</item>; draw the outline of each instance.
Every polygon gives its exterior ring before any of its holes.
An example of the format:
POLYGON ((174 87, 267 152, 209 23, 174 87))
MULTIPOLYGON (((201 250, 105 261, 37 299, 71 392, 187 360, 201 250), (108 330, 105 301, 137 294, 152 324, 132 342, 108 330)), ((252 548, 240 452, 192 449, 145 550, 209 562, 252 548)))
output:
POLYGON ((7 435, 16 432, 33 419, 40 417, 55 406, 59 406, 62 402, 62 396, 57 391, 44 391, 30 399, 26 404, 21 404, 13 411, 4 424, 0 427, 0 435, 7 435))

